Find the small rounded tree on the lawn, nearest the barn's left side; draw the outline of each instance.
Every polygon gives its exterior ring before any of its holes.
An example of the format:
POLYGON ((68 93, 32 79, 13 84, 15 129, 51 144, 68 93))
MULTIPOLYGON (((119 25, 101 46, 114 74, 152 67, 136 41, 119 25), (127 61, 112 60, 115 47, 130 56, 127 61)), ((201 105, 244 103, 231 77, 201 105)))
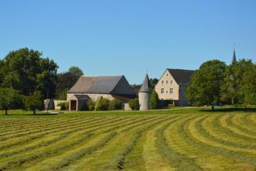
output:
POLYGON ((35 115, 35 111, 41 111, 44 109, 44 101, 43 96, 40 92, 35 91, 33 95, 30 95, 26 98, 25 107, 29 111, 33 111, 35 115))

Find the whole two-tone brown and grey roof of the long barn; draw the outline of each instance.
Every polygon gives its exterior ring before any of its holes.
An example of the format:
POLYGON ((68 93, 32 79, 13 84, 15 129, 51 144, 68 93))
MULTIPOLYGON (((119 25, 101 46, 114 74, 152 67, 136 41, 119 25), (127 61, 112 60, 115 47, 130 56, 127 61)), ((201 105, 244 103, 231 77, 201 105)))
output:
POLYGON ((67 93, 135 95, 125 76, 81 76, 67 93))

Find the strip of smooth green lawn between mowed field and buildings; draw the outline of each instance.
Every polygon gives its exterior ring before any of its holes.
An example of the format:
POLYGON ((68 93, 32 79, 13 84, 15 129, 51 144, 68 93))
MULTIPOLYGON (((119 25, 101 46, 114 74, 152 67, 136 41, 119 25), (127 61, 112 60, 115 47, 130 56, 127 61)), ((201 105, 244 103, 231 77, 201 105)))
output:
POLYGON ((256 107, 250 107, 245 110, 241 107, 233 106, 221 106, 215 108, 215 112, 211 111, 210 107, 173 107, 170 109, 158 109, 150 111, 81 111, 81 112, 69 112, 59 114, 47 114, 46 112, 37 112, 37 115, 33 115, 31 111, 22 110, 9 110, 8 115, 4 115, 5 111, 0 111, 1 118, 21 118, 21 117, 83 117, 83 116, 131 116, 131 115, 157 115, 157 114, 212 114, 212 113, 255 113, 256 107))

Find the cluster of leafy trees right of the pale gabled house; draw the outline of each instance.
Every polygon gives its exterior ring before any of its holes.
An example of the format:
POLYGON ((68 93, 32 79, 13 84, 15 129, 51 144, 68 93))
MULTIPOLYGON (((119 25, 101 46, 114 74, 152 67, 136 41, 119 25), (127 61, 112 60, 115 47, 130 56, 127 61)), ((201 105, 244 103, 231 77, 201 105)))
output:
POLYGON ((256 65, 252 60, 241 59, 230 65, 220 60, 202 63, 191 76, 185 92, 191 104, 214 106, 256 105, 256 65))

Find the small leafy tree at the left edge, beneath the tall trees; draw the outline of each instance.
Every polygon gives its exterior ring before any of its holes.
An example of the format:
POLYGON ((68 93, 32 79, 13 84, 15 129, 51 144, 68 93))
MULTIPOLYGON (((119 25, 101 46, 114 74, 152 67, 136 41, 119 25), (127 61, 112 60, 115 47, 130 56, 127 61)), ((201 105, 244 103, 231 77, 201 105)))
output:
POLYGON ((12 88, 0 88, 0 109, 8 115, 9 109, 23 108, 22 95, 12 88))

